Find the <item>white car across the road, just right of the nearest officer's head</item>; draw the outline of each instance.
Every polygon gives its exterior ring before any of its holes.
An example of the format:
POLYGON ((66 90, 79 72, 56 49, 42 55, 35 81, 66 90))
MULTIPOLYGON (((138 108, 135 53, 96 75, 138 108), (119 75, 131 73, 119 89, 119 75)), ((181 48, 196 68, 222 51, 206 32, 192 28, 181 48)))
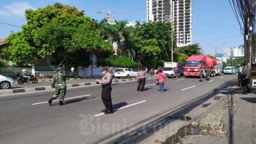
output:
POLYGON ((136 69, 132 68, 118 68, 114 73, 115 78, 131 78, 137 76, 136 69))

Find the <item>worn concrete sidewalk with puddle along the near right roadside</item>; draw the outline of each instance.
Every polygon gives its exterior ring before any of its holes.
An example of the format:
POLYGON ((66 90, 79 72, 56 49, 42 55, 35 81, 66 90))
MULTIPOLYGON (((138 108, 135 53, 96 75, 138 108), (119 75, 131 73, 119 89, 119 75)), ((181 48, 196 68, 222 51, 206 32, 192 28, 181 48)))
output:
POLYGON ((218 93, 186 114, 192 120, 175 120, 142 143, 255 144, 256 89, 248 94, 241 92, 233 96, 218 93))

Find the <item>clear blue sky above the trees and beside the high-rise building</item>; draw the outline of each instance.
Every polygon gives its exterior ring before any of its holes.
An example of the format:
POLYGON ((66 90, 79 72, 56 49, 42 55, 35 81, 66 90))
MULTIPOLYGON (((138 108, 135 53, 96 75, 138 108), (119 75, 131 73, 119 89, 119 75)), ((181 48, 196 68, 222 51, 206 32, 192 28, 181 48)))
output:
MULTIPOLYGON (((8 0, 0 1, 0 39, 21 31, 26 24, 24 10, 44 8, 59 2, 84 10, 87 17, 101 21, 106 13, 118 21, 145 21, 146 0, 8 0), (115 13, 117 12, 117 13, 115 13)), ((243 44, 239 23, 229 0, 192 1, 192 44, 198 43, 205 54, 223 53, 223 48, 243 44)))

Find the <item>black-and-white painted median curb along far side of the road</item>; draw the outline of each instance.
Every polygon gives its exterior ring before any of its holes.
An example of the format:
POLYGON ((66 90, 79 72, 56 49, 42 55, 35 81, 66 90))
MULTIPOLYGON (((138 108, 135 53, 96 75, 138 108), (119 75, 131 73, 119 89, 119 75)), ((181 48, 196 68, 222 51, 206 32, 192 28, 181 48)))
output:
MULTIPOLYGON (((146 79, 155 79, 154 77, 146 78, 146 79)), ((73 80, 73 79, 67 79, 67 80, 73 80)), ((40 82, 47 82, 50 80, 41 80, 40 82)), ((113 80, 113 82, 131 82, 136 81, 136 78, 129 78, 124 80, 113 80)), ((81 86, 90 86, 90 85, 97 85, 95 82, 85 82, 85 83, 79 83, 79 84, 67 84, 67 88, 70 87, 81 87, 81 86)), ((1 89, 0 96, 1 95, 8 95, 13 93, 27 93, 27 92, 33 92, 33 91, 45 91, 45 90, 52 90, 51 87, 33 87, 33 88, 18 88, 18 89, 1 89)))

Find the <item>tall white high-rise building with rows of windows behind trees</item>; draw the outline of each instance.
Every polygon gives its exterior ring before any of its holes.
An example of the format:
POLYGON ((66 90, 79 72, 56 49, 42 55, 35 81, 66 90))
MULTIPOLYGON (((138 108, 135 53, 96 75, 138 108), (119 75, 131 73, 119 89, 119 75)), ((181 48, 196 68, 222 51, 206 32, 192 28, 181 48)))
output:
POLYGON ((192 44, 192 0, 146 0, 147 22, 170 22, 177 46, 192 44))

